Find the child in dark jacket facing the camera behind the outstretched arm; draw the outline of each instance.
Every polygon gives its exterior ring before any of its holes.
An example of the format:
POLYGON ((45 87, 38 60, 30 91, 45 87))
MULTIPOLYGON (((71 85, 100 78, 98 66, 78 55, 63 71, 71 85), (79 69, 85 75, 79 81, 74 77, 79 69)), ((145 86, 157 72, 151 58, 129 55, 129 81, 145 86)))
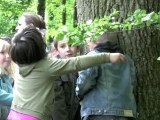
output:
MULTIPOLYGON (((59 59, 77 56, 80 46, 70 46, 67 40, 54 40, 50 55, 59 59)), ((55 80, 55 102, 52 120, 80 120, 80 105, 75 94, 78 73, 62 75, 55 80)))

